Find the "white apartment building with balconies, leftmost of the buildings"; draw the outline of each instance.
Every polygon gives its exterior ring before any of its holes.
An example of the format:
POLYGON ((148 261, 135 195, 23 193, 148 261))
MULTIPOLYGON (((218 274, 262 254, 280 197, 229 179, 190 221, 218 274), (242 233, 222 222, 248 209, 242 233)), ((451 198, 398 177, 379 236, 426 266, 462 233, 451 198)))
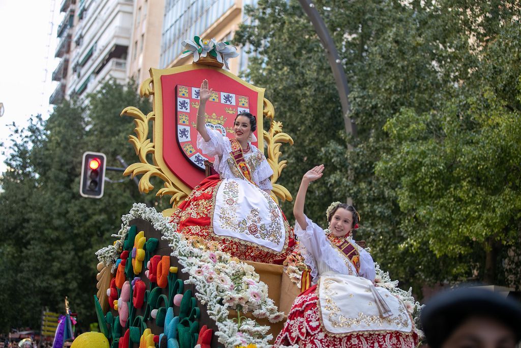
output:
POLYGON ((82 97, 110 77, 125 83, 133 1, 63 0, 62 5, 65 18, 58 27, 56 49, 62 59, 55 70, 60 81, 49 103, 82 97))

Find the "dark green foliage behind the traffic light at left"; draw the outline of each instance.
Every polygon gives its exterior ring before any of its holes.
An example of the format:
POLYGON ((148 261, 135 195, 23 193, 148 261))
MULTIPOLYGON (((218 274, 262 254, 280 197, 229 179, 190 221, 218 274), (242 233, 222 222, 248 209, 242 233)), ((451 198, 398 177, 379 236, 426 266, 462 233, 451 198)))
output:
POLYGON ((120 167, 119 154, 133 161, 127 143, 133 124, 119 116, 129 105, 151 109, 133 84, 107 82, 86 101, 65 101, 43 121, 32 117, 27 129, 13 125, 7 151, 8 170, 1 179, 0 329, 40 327, 41 310, 63 313, 64 298, 78 313, 81 327, 95 320, 95 251, 110 243, 121 215, 136 201, 155 204, 153 194, 139 194, 121 172, 107 177, 101 199, 79 195, 84 151, 103 152, 109 166, 120 167))

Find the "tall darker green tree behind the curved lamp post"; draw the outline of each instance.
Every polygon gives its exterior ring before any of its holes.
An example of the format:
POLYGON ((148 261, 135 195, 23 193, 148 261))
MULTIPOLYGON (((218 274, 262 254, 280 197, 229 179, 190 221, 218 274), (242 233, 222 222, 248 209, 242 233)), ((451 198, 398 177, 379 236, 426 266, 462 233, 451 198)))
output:
MULTIPOLYGON (((484 55, 483 47, 501 40, 513 46, 513 42, 519 42, 517 33, 501 37, 505 24, 519 18, 519 5, 499 1, 314 3, 339 49, 348 76, 351 116, 358 127, 355 139, 343 134, 337 91, 325 52, 299 3, 259 1, 256 8, 249 10, 252 24, 242 26, 235 37, 256 54, 245 75, 256 85, 266 87, 277 118, 295 140, 295 146, 284 152, 289 166, 281 183, 295 193, 302 173, 314 164, 325 163, 326 180, 313 187, 315 197, 307 207, 309 216, 324 225, 329 202, 351 197, 362 215, 358 238, 366 239, 375 260, 390 270, 393 278, 414 285, 420 296, 421 286, 426 283, 473 277, 475 268, 468 265, 483 265, 488 246, 480 244, 466 254, 439 253, 432 247, 433 241, 419 238, 426 224, 437 221, 411 221, 412 213, 402 203, 400 175, 414 177, 432 169, 424 166, 427 163, 402 166, 404 153, 400 152, 399 140, 409 129, 406 125, 411 127, 408 134, 419 136, 415 127, 420 127, 420 122, 410 115, 439 117, 454 103, 461 106, 461 111, 470 112, 465 109, 469 104, 463 102, 470 94, 463 91, 467 86, 473 86, 473 92, 480 91, 485 81, 475 78, 478 70, 487 76, 486 86, 515 99, 517 91, 512 87, 517 86, 518 75, 514 71, 497 75, 494 69, 508 57, 514 57, 511 63, 515 62, 516 49, 512 47, 510 55, 500 49, 484 55), (482 64, 484 58, 490 60, 489 68, 482 64), (389 133, 389 122, 395 118, 403 119, 395 122, 401 126, 395 126, 398 140, 389 133), (348 143, 353 145, 352 150, 348 143), (384 166, 387 162, 395 164, 393 171, 384 166)), ((509 104, 516 105, 513 101, 509 104)), ((433 141, 437 136, 433 131, 425 137, 433 141)), ((432 161, 437 160, 431 156, 432 161)), ((470 167, 460 170, 473 171, 470 167)), ((438 174, 441 181, 445 179, 442 172, 438 174)), ((284 208, 290 211, 291 205, 284 208)), ((437 212, 439 208, 430 209, 437 212)), ((445 230, 445 234, 459 233, 455 225, 445 230)), ((504 231, 500 235, 503 238, 504 231)), ((430 236, 437 241, 443 239, 441 235, 430 236)), ((466 248, 465 244, 461 248, 466 248)), ((483 272, 477 272, 477 279, 485 280, 483 272)), ((502 283, 501 277, 487 281, 502 283)))

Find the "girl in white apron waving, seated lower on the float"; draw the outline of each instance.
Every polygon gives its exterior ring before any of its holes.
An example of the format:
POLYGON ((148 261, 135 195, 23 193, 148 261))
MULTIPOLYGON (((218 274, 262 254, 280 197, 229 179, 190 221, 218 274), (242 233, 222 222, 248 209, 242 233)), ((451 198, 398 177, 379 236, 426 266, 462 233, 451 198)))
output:
POLYGON ((414 347, 411 316, 398 298, 373 284, 373 258, 351 237, 359 220, 354 207, 330 207, 327 233, 304 214, 307 187, 322 171, 324 165, 304 175, 293 208, 295 234, 315 285, 295 299, 275 346, 414 347))

